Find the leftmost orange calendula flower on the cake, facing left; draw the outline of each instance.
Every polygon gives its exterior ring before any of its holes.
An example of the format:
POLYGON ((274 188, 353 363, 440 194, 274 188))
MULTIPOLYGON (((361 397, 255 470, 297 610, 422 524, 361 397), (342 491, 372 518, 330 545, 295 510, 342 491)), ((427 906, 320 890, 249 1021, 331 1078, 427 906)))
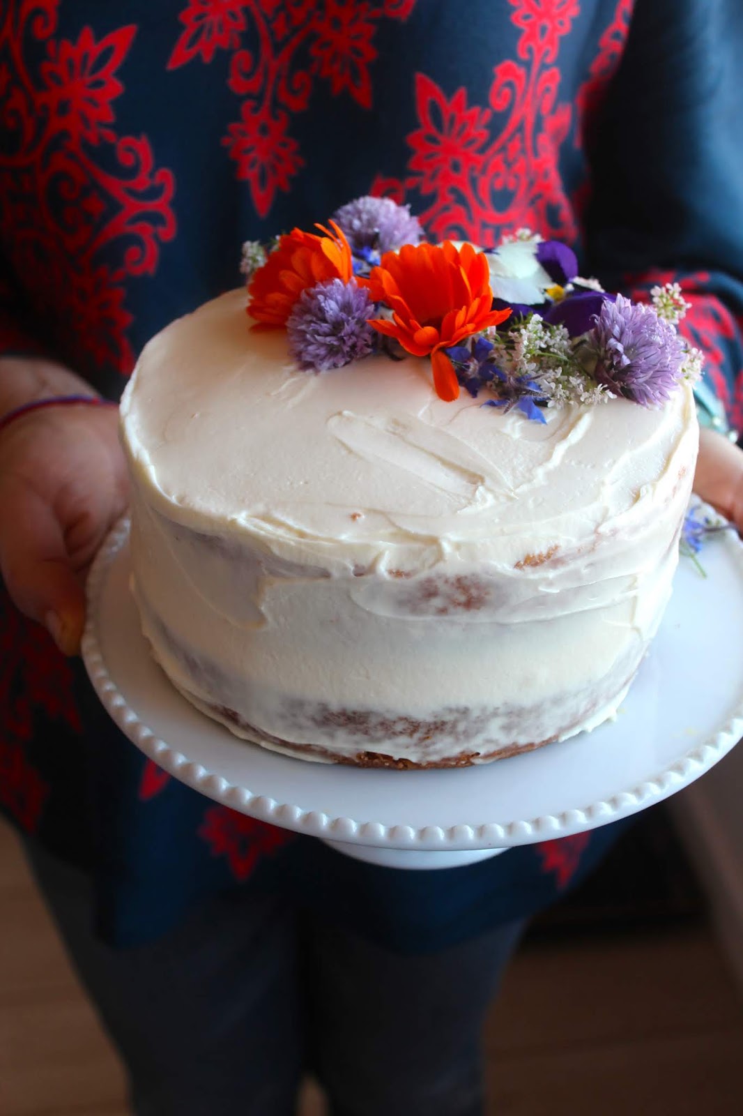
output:
POLYGON ((354 273, 348 241, 335 221, 324 235, 292 229, 279 239, 262 268, 250 280, 248 315, 267 326, 286 326, 295 302, 308 287, 329 279, 348 282, 354 273))

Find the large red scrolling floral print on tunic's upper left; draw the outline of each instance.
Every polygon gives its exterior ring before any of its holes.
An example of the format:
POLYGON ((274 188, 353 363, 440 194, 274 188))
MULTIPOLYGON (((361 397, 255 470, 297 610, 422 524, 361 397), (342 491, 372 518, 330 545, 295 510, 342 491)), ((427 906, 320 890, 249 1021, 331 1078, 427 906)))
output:
POLYGON ((9 148, 0 237, 61 350, 74 336, 90 360, 128 372, 125 280, 153 273, 160 244, 175 233, 173 175, 155 169, 145 136, 115 129, 118 71, 136 28, 56 39, 57 10, 58 0, 9 0, 0 10, 0 85, 11 90, 0 107, 9 148), (29 58, 45 50, 36 66, 26 60, 29 40, 29 58))

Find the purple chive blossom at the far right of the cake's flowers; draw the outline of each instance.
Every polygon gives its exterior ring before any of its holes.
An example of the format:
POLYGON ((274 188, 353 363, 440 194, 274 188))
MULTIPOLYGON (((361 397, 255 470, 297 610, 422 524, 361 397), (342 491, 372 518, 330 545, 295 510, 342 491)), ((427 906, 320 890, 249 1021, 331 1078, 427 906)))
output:
POLYGON ((633 304, 623 295, 616 302, 607 299, 588 340, 596 355, 594 378, 615 395, 657 406, 679 381, 682 340, 652 306, 633 304))

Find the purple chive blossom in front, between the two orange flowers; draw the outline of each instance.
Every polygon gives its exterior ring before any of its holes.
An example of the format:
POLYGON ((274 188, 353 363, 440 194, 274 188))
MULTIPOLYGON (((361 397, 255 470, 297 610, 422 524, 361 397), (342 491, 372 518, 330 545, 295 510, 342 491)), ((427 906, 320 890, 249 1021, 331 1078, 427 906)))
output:
POLYGON ((305 372, 340 368, 368 356, 374 304, 354 279, 330 279, 303 290, 287 321, 289 349, 305 372))

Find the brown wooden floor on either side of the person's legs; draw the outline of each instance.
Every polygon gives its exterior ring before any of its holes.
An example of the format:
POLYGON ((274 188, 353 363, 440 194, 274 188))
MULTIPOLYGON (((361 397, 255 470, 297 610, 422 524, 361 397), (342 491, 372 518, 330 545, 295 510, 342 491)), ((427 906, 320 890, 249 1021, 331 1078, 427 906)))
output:
MULTIPOLYGON (((125 1116, 116 1058, 4 827, 0 911, 0 1116, 125 1116)), ((489 1116, 743 1112, 743 1009, 704 929, 525 947, 486 1050, 489 1116)), ((309 1088, 302 1116, 322 1112, 309 1088)))

